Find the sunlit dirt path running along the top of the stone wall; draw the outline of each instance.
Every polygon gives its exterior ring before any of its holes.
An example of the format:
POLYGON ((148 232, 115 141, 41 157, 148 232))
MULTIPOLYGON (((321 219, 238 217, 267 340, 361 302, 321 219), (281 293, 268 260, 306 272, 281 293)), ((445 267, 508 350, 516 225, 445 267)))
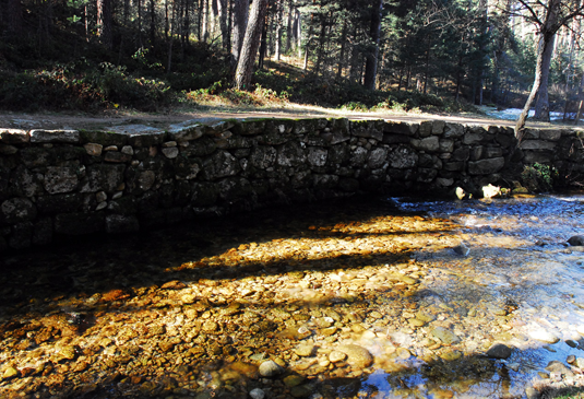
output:
MULTIPOLYGON (((0 128, 20 129, 106 129, 120 125, 148 125, 165 128, 168 125, 200 118, 341 118, 349 119, 391 119, 396 121, 418 122, 441 119, 461 124, 491 124, 513 126, 513 120, 489 118, 487 116, 463 114, 427 114, 395 112, 351 112, 318 106, 287 103, 277 107, 229 107, 201 106, 196 108, 178 108, 166 113, 141 113, 135 110, 106 110, 99 114, 75 112, 19 113, 0 110, 0 128)), ((528 126, 546 127, 550 124, 531 121, 528 126)), ((555 124, 555 126, 558 126, 555 124)), ((573 126, 564 126, 571 127, 573 126)))

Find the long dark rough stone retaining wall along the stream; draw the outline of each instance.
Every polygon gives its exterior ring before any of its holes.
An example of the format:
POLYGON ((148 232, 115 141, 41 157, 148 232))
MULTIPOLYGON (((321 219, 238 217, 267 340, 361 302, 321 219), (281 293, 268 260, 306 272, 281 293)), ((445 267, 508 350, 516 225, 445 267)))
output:
POLYGON ((440 120, 0 129, 0 250, 368 191, 479 192, 536 162, 584 169, 575 131, 532 129, 514 148, 511 128, 440 120))

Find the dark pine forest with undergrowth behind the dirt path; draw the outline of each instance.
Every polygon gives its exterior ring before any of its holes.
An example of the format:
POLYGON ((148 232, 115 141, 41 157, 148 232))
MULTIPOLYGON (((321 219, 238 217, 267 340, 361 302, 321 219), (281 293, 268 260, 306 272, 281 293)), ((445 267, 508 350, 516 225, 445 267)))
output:
MULTIPOLYGON (((539 36, 522 2, 254 1, 266 10, 238 90, 248 0, 1 0, 0 107, 162 110, 219 97, 456 112, 522 107, 534 82, 539 36)), ((557 33, 552 110, 581 96, 580 32, 574 17, 557 33)))

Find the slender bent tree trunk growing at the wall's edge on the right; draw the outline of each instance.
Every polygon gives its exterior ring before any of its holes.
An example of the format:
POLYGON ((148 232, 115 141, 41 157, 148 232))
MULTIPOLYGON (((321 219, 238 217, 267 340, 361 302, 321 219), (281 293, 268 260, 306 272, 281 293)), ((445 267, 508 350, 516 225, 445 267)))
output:
MULTIPOLYGON (((544 104, 547 105, 547 84, 548 84, 547 78, 549 75, 549 64, 551 61, 551 54, 553 50, 553 39, 556 36, 556 31, 558 30, 558 27, 556 26, 556 23, 558 21, 558 9, 560 7, 560 2, 561 0, 550 0, 548 8, 546 10, 546 19, 539 30, 539 33, 541 35, 541 40, 540 40, 539 46, 537 46, 537 61, 535 64, 534 85, 532 86, 532 92, 529 93, 529 96, 527 97, 527 101, 525 102, 525 106, 523 107, 523 110, 520 117, 517 118, 517 121, 515 122, 515 137, 517 138, 517 145, 519 143, 521 143, 521 140, 523 139, 523 134, 525 132, 525 121, 527 120, 529 108, 532 107, 532 104, 538 91, 541 90, 541 84, 544 84, 545 98, 538 99, 538 102, 541 101, 540 110, 543 110, 544 104), (547 71, 544 70, 546 66, 547 66, 547 71), (546 78, 545 83, 544 83, 544 74, 546 78)), ((549 107, 547 112, 549 113, 549 107)), ((548 118, 549 118, 549 114, 548 114, 548 118)))

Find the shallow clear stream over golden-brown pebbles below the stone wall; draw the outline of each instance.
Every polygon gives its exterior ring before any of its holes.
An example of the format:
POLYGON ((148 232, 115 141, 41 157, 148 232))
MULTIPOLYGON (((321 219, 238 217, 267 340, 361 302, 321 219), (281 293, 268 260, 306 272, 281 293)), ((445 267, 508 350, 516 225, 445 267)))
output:
POLYGON ((580 199, 562 201, 357 199, 8 254, 0 396, 536 398, 577 386, 584 257, 565 240, 583 218, 580 199))

